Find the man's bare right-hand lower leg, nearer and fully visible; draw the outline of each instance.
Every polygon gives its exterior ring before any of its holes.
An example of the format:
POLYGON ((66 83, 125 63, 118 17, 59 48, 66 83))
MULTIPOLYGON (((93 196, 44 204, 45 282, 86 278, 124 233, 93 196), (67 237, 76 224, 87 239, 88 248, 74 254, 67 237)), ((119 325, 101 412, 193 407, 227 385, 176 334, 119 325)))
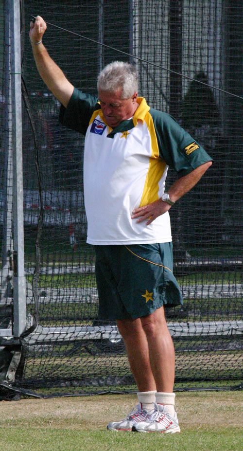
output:
POLYGON ((164 307, 141 318, 147 337, 150 364, 157 392, 172 393, 174 387, 174 344, 168 330, 164 307))

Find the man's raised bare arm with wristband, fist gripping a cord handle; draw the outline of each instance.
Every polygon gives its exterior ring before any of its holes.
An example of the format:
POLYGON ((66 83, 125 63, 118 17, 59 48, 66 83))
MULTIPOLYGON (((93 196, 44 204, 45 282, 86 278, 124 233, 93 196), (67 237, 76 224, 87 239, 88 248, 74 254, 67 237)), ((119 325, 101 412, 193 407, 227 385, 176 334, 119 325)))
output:
POLYGON ((74 88, 42 43, 42 36, 46 29, 46 22, 40 16, 36 17, 35 23, 31 22, 30 24, 30 41, 35 64, 44 83, 59 102, 67 107, 74 88))

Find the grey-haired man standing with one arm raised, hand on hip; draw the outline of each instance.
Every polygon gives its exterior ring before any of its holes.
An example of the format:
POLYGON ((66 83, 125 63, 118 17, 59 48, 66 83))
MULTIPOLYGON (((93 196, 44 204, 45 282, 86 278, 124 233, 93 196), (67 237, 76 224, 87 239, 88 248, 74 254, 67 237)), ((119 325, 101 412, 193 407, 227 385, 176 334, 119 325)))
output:
POLYGON ((134 66, 115 61, 98 77, 98 96, 72 86, 31 22, 40 76, 61 102, 60 120, 86 136, 87 243, 96 252, 100 318, 116 320, 138 386, 138 405, 114 431, 180 432, 174 410, 174 345, 164 307, 182 304, 173 275, 169 210, 212 159, 174 119, 138 97, 134 66), (164 192, 168 167, 178 180, 164 192))

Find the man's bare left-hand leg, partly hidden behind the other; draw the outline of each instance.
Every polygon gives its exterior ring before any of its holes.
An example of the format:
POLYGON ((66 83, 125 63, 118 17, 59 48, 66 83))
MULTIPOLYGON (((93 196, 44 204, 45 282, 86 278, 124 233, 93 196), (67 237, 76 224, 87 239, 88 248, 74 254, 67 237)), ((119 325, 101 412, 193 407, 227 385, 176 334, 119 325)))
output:
POLYGON ((139 392, 156 390, 150 365, 148 341, 140 318, 117 320, 117 325, 125 342, 128 360, 139 392))

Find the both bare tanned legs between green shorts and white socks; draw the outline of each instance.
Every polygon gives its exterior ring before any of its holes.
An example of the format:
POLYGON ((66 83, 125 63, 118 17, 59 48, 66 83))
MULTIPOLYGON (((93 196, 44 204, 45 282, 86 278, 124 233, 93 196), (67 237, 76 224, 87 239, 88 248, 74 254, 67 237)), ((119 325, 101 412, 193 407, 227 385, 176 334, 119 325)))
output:
POLYGON ((118 320, 128 360, 140 392, 172 393, 174 387, 174 344, 164 307, 136 320, 118 320))

